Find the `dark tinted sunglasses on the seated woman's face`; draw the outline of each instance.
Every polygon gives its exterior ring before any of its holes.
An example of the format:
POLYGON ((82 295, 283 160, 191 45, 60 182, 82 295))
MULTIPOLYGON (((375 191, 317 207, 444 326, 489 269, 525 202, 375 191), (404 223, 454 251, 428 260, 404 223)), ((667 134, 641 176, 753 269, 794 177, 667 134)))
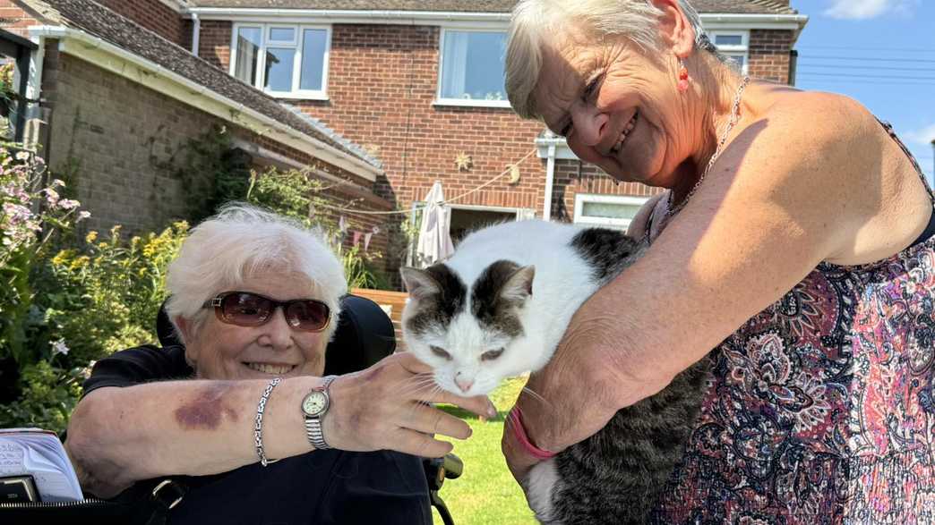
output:
POLYGON ((276 301, 250 291, 225 291, 205 302, 203 308, 214 308, 222 322, 237 326, 260 326, 272 318, 281 307, 286 322, 295 330, 321 332, 331 320, 331 308, 314 299, 276 301))

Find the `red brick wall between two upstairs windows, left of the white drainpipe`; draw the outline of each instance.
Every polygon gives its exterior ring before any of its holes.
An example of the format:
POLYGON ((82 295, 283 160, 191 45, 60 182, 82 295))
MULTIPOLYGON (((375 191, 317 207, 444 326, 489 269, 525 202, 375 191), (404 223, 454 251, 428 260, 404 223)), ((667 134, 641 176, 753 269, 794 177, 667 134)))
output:
MULTIPOLYGON (((452 198, 475 189, 533 149, 541 126, 509 108, 432 106, 439 65, 439 28, 335 25, 326 103, 298 102, 339 134, 378 150, 400 206, 422 200, 435 180, 452 198), (459 170, 458 153, 473 165, 459 170)), ((516 185, 504 179, 457 201, 464 205, 542 206, 543 163, 520 164, 516 185)))

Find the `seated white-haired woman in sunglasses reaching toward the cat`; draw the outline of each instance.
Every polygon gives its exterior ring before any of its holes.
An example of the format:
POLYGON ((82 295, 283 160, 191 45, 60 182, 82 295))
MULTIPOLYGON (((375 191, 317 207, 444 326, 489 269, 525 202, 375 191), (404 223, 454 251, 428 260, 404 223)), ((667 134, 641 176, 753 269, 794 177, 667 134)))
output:
MULTIPOLYGON (((431 434, 463 439, 470 429, 430 403, 485 416, 493 406, 428 388, 429 369, 405 353, 322 377, 346 284, 315 234, 228 207, 194 228, 166 280, 166 310, 184 346, 131 348, 96 363, 65 444, 82 489, 107 498, 139 480, 243 467, 281 472, 278 483, 289 485, 259 509, 244 505, 248 492, 208 516, 233 508, 243 522, 259 522, 252 512, 277 521, 289 502, 324 508, 314 485, 342 501, 309 522, 431 523, 421 463, 406 455, 443 456, 451 444, 431 434), (309 459, 298 471, 272 462, 300 455, 309 459), (355 479, 367 487, 352 487, 355 479)), ((179 510, 198 515, 188 503, 179 510)))

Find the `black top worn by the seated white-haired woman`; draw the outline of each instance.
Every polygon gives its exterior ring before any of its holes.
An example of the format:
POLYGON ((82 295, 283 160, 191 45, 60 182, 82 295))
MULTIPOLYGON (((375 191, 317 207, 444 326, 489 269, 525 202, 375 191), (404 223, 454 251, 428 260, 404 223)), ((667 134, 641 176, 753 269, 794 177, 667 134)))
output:
MULTIPOLYGON (((151 345, 94 364, 85 395, 193 376, 184 348, 151 345)), ((298 407, 296 407, 296 410, 298 407)), ((171 524, 431 525, 422 461, 398 452, 316 450, 220 475, 173 476, 189 487, 169 514, 171 524)))

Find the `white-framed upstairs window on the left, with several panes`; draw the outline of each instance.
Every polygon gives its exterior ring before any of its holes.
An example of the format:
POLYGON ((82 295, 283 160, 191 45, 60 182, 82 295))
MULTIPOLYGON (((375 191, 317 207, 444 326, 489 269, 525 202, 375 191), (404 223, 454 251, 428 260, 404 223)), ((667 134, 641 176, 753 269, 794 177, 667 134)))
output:
POLYGON ((287 98, 327 98, 328 27, 237 24, 230 73, 253 87, 287 98))

